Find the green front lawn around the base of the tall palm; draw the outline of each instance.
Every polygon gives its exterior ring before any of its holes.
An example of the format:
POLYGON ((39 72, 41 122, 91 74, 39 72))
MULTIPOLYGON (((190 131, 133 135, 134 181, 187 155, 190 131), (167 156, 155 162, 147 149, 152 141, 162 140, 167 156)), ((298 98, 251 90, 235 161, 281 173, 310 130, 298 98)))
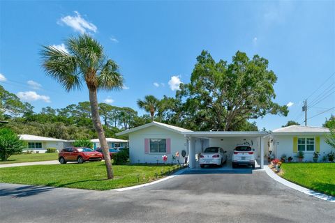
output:
POLYGON ((104 162, 6 167, 0 169, 0 182, 110 190, 151 182, 156 174, 162 178, 172 171, 172 166, 114 165, 113 169, 114 179, 106 180, 104 162))

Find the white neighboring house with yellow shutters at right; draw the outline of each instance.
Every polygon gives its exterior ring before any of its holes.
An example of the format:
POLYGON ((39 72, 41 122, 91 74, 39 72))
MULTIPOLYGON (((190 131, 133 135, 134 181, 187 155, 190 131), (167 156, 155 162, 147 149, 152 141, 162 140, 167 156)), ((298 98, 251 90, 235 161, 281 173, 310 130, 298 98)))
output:
POLYGON ((312 161, 313 153, 320 152, 319 161, 324 155, 332 151, 332 147, 325 142, 328 128, 290 125, 271 132, 270 150, 280 158, 283 154, 291 156, 297 161, 298 151, 304 152, 304 161, 312 161))

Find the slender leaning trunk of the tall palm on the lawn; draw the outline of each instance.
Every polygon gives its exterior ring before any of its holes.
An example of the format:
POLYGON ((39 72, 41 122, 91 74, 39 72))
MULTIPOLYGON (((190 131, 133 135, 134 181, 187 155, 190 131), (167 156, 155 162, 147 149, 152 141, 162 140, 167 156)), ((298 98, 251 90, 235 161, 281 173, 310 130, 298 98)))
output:
POLYGON ((91 105, 92 119, 94 123, 94 128, 98 132, 98 138, 100 141, 101 148, 103 148, 103 157, 105 157, 105 164, 107 170, 107 178, 114 178, 114 173, 112 169, 112 162, 110 161, 110 151, 105 137, 105 131, 103 130, 103 125, 101 125, 100 115, 98 110, 98 98, 96 91, 89 89, 89 102, 91 105))

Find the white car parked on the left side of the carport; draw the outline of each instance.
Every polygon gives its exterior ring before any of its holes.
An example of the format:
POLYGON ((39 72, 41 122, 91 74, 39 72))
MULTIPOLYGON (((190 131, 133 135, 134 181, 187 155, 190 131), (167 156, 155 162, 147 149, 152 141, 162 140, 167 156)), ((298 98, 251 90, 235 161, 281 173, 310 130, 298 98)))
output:
POLYGON ((227 151, 223 151, 221 147, 207 147, 204 152, 200 155, 200 167, 204 168, 204 165, 216 165, 222 167, 222 164, 227 161, 227 151))

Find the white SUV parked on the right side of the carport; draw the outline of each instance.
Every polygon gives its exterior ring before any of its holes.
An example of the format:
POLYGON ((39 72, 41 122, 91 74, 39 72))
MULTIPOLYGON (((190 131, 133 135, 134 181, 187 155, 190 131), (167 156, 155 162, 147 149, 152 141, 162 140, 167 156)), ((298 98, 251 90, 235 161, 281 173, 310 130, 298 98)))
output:
POLYGON ((239 145, 232 154, 232 168, 238 165, 250 165, 255 169, 255 150, 248 145, 239 145))

